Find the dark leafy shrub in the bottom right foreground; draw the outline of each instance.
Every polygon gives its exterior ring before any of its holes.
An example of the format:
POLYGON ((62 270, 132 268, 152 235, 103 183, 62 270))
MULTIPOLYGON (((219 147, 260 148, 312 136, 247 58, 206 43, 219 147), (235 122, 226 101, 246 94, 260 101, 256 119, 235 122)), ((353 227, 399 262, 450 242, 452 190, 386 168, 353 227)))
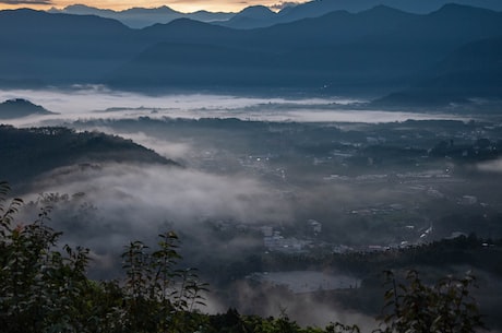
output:
POLYGON ((406 283, 397 283, 385 272, 390 288, 384 295, 384 313, 379 333, 474 333, 485 328, 478 306, 469 295, 475 277, 447 276, 433 285, 425 284, 416 271, 409 271, 406 283))

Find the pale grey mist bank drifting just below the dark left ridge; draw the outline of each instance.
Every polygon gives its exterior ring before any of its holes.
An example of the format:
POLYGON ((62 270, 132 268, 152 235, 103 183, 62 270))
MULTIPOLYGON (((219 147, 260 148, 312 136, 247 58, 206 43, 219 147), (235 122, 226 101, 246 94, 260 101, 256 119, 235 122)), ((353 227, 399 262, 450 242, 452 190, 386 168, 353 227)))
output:
MULTIPOLYGON (((131 240, 153 242, 158 234, 172 229, 184 235, 183 248, 196 261, 208 252, 215 258, 238 255, 256 247, 248 235, 222 242, 211 234, 210 222, 252 226, 292 219, 288 203, 258 179, 178 167, 71 166, 41 177, 32 194, 22 197, 25 202, 36 201, 40 192, 69 194, 68 200, 41 205, 53 207, 50 225, 63 231, 62 243, 93 250, 99 274, 118 267, 118 254, 131 240)), ((38 209, 26 211, 22 221, 34 221, 38 209)))

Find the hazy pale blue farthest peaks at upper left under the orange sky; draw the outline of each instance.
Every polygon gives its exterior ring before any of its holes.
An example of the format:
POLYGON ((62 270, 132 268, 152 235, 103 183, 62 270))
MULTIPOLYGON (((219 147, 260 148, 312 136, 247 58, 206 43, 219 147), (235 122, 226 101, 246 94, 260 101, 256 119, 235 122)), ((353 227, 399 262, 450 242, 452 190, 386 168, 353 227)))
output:
POLYGON ((49 10, 50 13, 64 13, 75 15, 96 15, 100 17, 113 19, 122 22, 129 27, 143 28, 156 23, 169 23, 177 19, 192 19, 201 22, 215 22, 226 21, 231 19, 235 13, 222 13, 222 12, 207 12, 198 11, 193 13, 181 13, 170 9, 169 7, 163 5, 159 8, 132 8, 123 11, 112 11, 106 9, 97 9, 85 4, 72 4, 65 7, 62 10, 52 8, 49 10))

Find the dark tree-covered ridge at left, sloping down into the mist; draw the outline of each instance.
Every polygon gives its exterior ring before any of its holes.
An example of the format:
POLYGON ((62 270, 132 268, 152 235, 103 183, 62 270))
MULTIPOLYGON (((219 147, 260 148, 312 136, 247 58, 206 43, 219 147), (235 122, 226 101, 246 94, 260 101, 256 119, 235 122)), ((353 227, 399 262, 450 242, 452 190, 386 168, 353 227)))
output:
POLYGON ((132 162, 176 165, 131 140, 64 127, 17 129, 0 124, 0 175, 13 185, 74 164, 132 162))

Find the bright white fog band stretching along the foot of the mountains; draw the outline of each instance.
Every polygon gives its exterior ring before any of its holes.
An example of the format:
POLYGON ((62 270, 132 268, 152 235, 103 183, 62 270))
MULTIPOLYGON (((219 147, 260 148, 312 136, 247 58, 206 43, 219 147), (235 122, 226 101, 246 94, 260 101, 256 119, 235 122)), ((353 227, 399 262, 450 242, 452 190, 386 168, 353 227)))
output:
POLYGON ((407 119, 463 119, 443 114, 357 110, 351 105, 367 100, 330 98, 260 98, 229 95, 147 96, 109 91, 103 86, 74 87, 68 91, 0 91, 0 100, 25 98, 59 115, 28 117, 10 123, 28 127, 57 124, 76 119, 151 118, 238 118, 263 121, 298 122, 391 122, 407 119))

